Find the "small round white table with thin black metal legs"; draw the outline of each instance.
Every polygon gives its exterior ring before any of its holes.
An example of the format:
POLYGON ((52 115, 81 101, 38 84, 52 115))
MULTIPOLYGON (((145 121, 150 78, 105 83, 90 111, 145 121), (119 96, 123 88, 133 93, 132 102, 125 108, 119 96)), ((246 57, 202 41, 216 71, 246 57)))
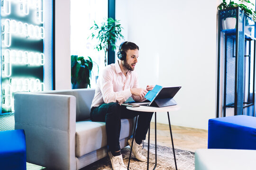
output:
MULTIPOLYGON (((176 157, 175 157, 175 151, 174 151, 174 141, 173 141, 173 134, 172 134, 172 128, 171 128, 171 123, 170 123, 170 116, 169 116, 169 111, 176 111, 179 110, 180 107, 178 105, 173 105, 173 106, 166 106, 166 107, 152 107, 152 106, 139 106, 139 107, 126 107, 129 110, 135 110, 135 111, 145 111, 145 112, 155 112, 155 167, 153 170, 156 168, 156 160, 157 160, 157 154, 156 154, 156 112, 167 112, 168 115, 168 121, 169 121, 169 128, 170 128, 170 134, 171 134, 171 139, 172 139, 172 146, 173 146, 173 152, 174 152, 174 162, 175 162, 175 169, 177 170, 177 163, 176 163, 176 157)), ((132 146, 133 146, 133 141, 134 141, 134 136, 135 136, 135 129, 137 126, 137 118, 136 117, 136 122, 134 124, 134 130, 133 130, 133 138, 132 138, 132 145, 131 145, 131 150, 130 150, 130 155, 129 155, 129 161, 128 161, 128 170, 129 170, 129 164, 130 164, 130 159, 131 159, 131 152, 132 152, 132 146)), ((147 144, 147 170, 149 167, 149 141, 150 139, 150 124, 148 128, 148 144, 147 144)))

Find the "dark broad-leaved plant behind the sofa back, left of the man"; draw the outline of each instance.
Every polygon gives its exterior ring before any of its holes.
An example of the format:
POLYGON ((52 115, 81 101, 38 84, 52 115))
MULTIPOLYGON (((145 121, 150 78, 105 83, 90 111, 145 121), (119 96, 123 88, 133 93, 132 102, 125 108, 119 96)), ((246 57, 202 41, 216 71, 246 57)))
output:
POLYGON ((77 55, 71 56, 71 83, 72 89, 78 88, 91 88, 90 77, 93 61, 90 57, 78 57, 77 55))

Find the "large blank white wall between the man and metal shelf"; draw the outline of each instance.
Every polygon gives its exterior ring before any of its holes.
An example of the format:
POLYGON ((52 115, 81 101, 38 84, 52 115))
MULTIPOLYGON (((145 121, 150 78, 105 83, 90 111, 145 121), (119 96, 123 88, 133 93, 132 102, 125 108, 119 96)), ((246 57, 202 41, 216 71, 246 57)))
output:
MULTIPOLYGON (((139 46, 140 85, 181 85, 173 125, 208 128, 215 118, 219 0, 116 0, 126 40, 139 46), (126 14, 124 14, 126 13, 126 14)), ((157 122, 168 123, 165 113, 157 122)))

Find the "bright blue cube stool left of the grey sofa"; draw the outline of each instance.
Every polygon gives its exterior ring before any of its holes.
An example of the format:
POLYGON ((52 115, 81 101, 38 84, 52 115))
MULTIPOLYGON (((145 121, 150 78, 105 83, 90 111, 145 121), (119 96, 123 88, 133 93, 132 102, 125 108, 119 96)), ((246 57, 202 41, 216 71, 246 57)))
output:
POLYGON ((23 129, 0 131, 0 170, 26 170, 26 139, 23 129))

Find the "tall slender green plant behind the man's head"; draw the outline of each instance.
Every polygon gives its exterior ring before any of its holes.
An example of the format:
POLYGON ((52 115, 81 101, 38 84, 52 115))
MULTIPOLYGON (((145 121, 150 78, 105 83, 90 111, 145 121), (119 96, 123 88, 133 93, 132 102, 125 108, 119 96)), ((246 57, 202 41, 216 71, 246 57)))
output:
MULTIPOLYGON (((114 20, 113 18, 108 18, 106 21, 101 23, 101 26, 98 26, 95 21, 94 25, 90 28, 94 29, 93 33, 91 34, 91 39, 95 36, 98 40, 98 44, 95 47, 98 51, 104 50, 105 52, 105 66, 107 65, 107 52, 110 50, 112 46, 112 50, 116 50, 116 41, 123 38, 121 34, 121 25, 119 21, 114 20)), ((89 37, 88 37, 89 38, 89 37)))

